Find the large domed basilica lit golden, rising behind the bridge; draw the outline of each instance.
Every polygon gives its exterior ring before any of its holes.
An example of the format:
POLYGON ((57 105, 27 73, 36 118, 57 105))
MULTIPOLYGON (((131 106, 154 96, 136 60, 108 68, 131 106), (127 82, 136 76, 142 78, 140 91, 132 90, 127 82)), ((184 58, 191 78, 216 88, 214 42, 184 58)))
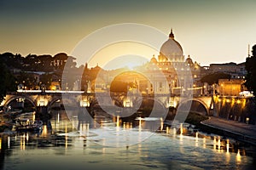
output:
POLYGON ((192 90, 193 94, 201 94, 202 89, 199 86, 204 69, 197 62, 193 62, 190 56, 184 58, 183 48, 175 40, 171 30, 157 59, 153 56, 146 65, 138 68, 149 77, 148 84, 143 85, 146 89, 141 88, 140 91, 147 94, 182 94, 192 90))

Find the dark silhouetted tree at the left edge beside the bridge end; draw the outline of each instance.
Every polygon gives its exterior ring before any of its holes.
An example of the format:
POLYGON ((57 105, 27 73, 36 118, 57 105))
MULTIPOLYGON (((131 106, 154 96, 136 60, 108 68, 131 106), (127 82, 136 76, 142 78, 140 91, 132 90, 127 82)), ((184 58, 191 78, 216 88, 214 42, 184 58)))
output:
POLYGON ((6 96, 7 92, 13 92, 16 90, 15 77, 7 66, 0 60, 0 103, 6 96))

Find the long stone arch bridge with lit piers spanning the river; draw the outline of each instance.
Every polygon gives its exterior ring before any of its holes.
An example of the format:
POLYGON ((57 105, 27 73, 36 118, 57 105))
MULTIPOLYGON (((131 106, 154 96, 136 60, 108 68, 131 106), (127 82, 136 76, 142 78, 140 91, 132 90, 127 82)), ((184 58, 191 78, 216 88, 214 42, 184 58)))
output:
MULTIPOLYGON (((41 106, 46 106, 48 109, 60 100, 62 100, 65 105, 73 105, 76 107, 89 107, 89 106, 112 106, 118 105, 119 107, 134 107, 140 102, 139 100, 154 100, 160 105, 173 108, 183 107, 190 102, 191 111, 195 107, 202 108, 201 114, 212 115, 213 111, 213 99, 212 96, 189 96, 181 97, 170 94, 110 94, 109 93, 84 93, 83 91, 46 91, 42 93, 41 91, 22 91, 9 93, 6 95, 2 102, 2 106, 8 108, 12 102, 24 107, 25 100, 33 105, 33 107, 38 108, 41 106)), ((196 110, 196 109, 195 109, 196 110)))

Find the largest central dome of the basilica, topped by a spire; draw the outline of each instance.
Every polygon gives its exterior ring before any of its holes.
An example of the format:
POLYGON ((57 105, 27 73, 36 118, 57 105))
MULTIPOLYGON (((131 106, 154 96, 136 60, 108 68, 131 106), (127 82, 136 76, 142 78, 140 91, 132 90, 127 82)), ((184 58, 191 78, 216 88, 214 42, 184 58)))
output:
POLYGON ((160 48, 160 61, 176 61, 176 62, 183 62, 183 48, 174 39, 174 34, 171 30, 171 33, 169 34, 169 39, 163 43, 163 45, 160 48))

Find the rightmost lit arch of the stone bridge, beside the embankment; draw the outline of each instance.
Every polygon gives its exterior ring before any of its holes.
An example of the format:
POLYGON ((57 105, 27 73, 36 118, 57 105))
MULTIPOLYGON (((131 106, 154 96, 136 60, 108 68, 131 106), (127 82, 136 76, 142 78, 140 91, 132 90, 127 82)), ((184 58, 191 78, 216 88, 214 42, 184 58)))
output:
POLYGON ((193 111, 193 110, 191 110, 191 108, 197 107, 197 109, 200 110, 198 112, 202 113, 202 110, 204 110, 205 111, 205 115, 209 115, 210 114, 210 111, 209 111, 210 108, 201 99, 195 99, 195 98, 193 98, 193 99, 184 99, 183 101, 180 101, 180 103, 177 105, 177 108, 180 107, 181 105, 185 105, 188 102, 191 102, 190 111, 193 111))

